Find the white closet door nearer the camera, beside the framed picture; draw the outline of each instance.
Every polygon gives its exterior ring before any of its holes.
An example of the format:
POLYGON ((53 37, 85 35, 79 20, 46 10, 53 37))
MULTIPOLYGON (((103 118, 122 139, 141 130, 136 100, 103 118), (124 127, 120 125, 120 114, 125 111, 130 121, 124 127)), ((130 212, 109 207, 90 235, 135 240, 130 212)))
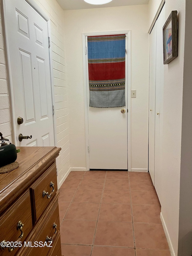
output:
POLYGON ((156 43, 156 92, 155 92, 155 189, 161 203, 161 142, 163 129, 163 26, 165 23, 165 7, 157 20, 156 43), (159 114, 157 114, 159 113, 159 114))

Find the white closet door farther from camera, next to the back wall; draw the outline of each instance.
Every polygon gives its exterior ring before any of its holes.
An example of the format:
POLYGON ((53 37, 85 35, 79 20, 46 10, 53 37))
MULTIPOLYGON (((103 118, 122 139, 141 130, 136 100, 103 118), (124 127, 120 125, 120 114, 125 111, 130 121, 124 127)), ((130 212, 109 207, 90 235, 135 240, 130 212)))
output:
POLYGON ((149 59, 149 173, 154 185, 155 177, 155 80, 156 80, 157 22, 150 34, 149 59))

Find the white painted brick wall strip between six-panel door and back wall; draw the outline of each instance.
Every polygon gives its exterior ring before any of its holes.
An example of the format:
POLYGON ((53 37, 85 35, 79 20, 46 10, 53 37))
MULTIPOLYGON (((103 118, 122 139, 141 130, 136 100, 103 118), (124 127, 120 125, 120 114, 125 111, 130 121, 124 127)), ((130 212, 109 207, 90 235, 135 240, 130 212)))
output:
MULTIPOLYGON (((64 13, 55 0, 38 0, 51 20, 51 50, 55 90, 55 115, 57 146, 61 147, 57 158, 58 181, 61 182, 70 168, 69 122, 66 88, 66 64, 64 45, 64 13)), ((60 184, 61 185, 61 184, 60 184)))

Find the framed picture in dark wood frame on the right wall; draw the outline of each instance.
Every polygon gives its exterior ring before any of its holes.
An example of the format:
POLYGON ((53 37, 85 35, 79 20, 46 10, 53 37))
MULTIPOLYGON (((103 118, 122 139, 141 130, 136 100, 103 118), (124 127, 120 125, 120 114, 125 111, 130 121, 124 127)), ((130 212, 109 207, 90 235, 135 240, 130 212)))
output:
POLYGON ((170 63, 178 56, 177 11, 172 11, 163 26, 164 64, 170 63))

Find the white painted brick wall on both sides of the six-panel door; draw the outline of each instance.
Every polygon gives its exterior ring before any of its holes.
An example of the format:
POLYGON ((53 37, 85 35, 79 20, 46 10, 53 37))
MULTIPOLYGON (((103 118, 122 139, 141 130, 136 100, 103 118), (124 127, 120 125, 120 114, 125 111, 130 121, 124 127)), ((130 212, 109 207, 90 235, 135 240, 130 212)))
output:
MULTIPOLYGON (((36 0, 41 8, 47 12, 51 20, 51 50, 53 63, 55 115, 57 146, 61 152, 57 158, 58 181, 60 182, 70 168, 69 154, 69 125, 66 88, 66 65, 64 46, 64 13, 55 0, 36 0)), ((1 24, 1 23, 0 23, 1 24)), ((0 31, 0 131, 4 136, 11 135, 9 94, 4 65, 3 35, 0 31), (2 64, 1 64, 2 63, 2 64)))

